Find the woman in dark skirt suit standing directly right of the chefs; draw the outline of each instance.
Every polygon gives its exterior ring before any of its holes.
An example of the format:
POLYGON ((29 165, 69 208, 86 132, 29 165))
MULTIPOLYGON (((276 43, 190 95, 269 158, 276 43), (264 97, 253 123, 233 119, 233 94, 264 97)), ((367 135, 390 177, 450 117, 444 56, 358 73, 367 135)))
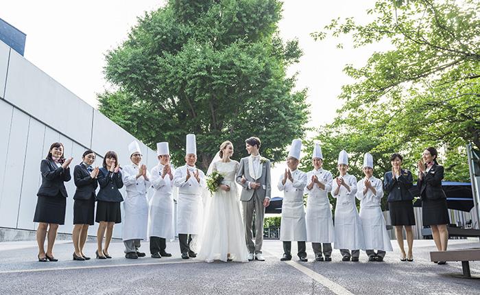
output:
POLYGON ((411 226, 415 225, 413 214, 413 196, 409 189, 413 187, 413 176, 407 169, 402 169, 403 157, 400 154, 392 154, 390 163, 392 171, 385 173, 383 178, 383 191, 388 193, 388 207, 392 225, 395 226, 395 236, 400 247, 400 261, 413 261, 413 233, 411 226), (408 255, 403 248, 403 227, 407 233, 408 255))

